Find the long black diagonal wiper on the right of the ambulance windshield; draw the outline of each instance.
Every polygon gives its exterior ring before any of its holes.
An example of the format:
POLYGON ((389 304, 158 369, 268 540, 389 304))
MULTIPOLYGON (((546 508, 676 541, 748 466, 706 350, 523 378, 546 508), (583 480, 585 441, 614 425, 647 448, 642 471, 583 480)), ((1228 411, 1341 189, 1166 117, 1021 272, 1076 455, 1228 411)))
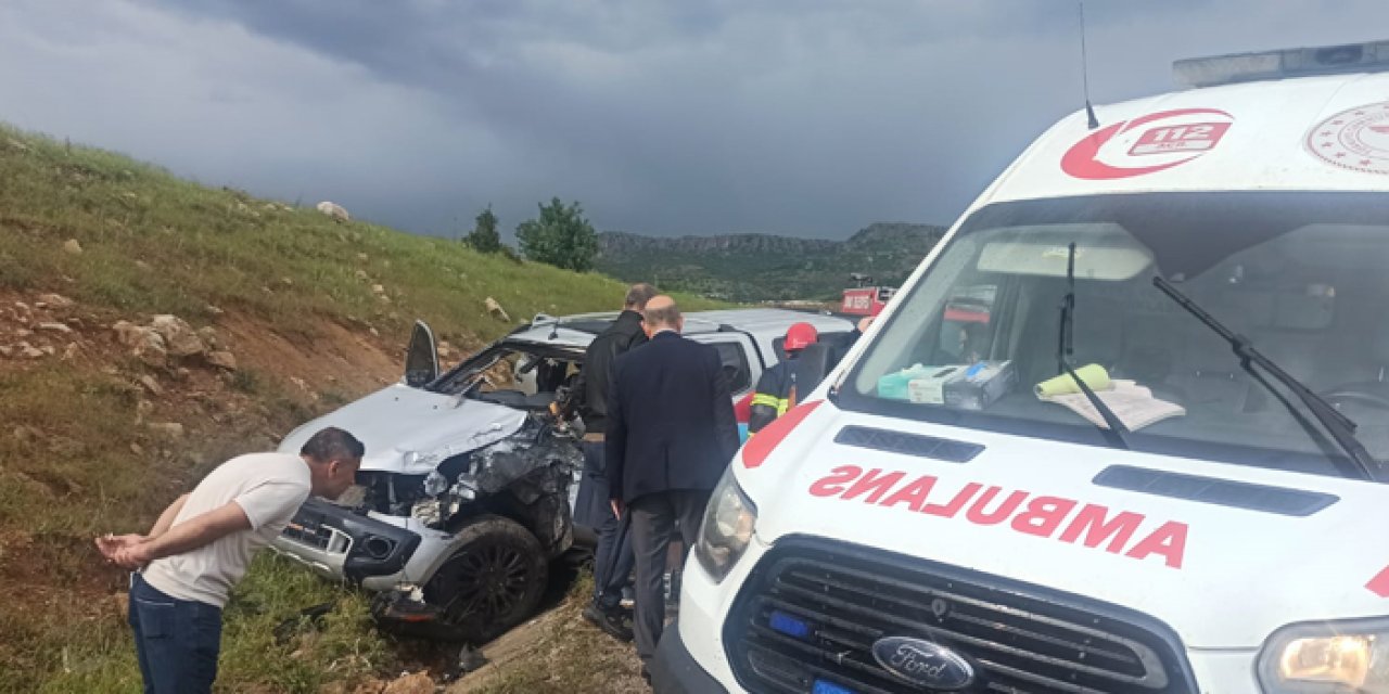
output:
POLYGON ((1153 286, 1163 290, 1164 294, 1176 301, 1178 305, 1186 310, 1186 312, 1196 316, 1197 321, 1206 323, 1207 328, 1221 336, 1231 348, 1235 350, 1235 355, 1239 357, 1239 365, 1250 376, 1254 376, 1260 383, 1265 383, 1264 379, 1258 378, 1254 372, 1251 364, 1257 364, 1258 368, 1268 372, 1271 376, 1278 379, 1288 390, 1292 390, 1297 400, 1301 400, 1303 405, 1321 422, 1321 426, 1331 433, 1331 437, 1336 440, 1351 462, 1356 464, 1358 472, 1364 475, 1365 479, 1372 482, 1379 482, 1382 479, 1379 461, 1370 455, 1364 444, 1356 439, 1356 422, 1349 416, 1340 414, 1339 409, 1326 403, 1321 396, 1314 393, 1310 387, 1297 380, 1292 373, 1278 368, 1268 357, 1254 348, 1254 343, 1249 341, 1247 337, 1235 333, 1225 323, 1221 323, 1215 316, 1207 314, 1201 307, 1196 305, 1195 301, 1186 298, 1185 294, 1176 290, 1171 282, 1154 276, 1153 286))

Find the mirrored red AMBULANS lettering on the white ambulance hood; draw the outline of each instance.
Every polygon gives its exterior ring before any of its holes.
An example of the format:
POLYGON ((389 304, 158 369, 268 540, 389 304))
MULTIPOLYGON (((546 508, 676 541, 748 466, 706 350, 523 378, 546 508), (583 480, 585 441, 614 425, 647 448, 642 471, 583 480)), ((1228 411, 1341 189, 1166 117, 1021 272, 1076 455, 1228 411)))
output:
MULTIPOLYGON (((963 518, 979 526, 1007 526, 1013 532, 1036 537, 1054 537, 1063 543, 1083 544, 1132 559, 1160 557, 1167 566, 1182 568, 1186 552, 1186 523, 1167 520, 1140 533, 1147 516, 1133 511, 1111 511, 1099 504, 1082 504, 1063 497, 1033 496, 1024 490, 1004 490, 970 482, 950 494, 938 493, 938 477, 908 477, 901 471, 863 469, 840 465, 810 484, 810 494, 840 501, 858 501, 900 512, 940 518, 963 518)), ((1389 569, 1371 582, 1389 597, 1389 569)), ((1379 593, 1379 590, 1375 590, 1379 593)))

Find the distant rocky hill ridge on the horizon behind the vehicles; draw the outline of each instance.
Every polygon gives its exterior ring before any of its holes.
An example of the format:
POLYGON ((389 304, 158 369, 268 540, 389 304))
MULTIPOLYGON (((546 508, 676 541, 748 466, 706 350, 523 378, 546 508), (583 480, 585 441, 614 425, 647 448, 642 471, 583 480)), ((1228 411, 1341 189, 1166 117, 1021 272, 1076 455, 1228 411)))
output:
POLYGON ((943 233, 940 226, 920 223, 874 223, 843 242, 608 232, 599 236, 597 266, 624 280, 732 301, 833 300, 849 286, 850 273, 900 283, 943 233))

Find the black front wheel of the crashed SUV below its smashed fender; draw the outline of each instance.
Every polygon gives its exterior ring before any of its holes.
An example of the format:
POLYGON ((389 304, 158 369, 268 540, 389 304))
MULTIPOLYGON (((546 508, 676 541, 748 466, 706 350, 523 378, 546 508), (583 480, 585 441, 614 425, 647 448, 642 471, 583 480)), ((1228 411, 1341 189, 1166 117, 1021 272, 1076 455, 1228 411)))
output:
POLYGON ((549 568, 540 541, 510 518, 482 516, 457 534, 461 544, 425 584, 425 601, 443 609, 458 638, 482 645, 535 612, 549 568))

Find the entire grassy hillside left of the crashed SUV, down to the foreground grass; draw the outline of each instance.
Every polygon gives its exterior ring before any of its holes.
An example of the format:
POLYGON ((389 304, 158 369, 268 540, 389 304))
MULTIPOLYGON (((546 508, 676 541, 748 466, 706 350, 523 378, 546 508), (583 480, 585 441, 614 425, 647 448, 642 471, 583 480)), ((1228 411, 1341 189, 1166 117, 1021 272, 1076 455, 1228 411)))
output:
MULTIPOLYGON (((101 326, 165 312, 194 328, 235 322, 282 336, 308 358, 328 347, 351 354, 354 344, 338 344, 340 326, 361 336, 375 329, 381 337, 365 340, 393 358, 417 316, 471 346, 510 328, 486 315, 489 296, 521 318, 610 308, 622 286, 336 223, 0 126, 0 300, 32 303, 43 291, 76 300, 71 314, 88 335, 76 359, 0 358, 0 691, 138 691, 124 576, 101 565, 89 539, 147 527, 218 461, 264 448, 276 432, 394 376, 351 373, 358 365, 343 359, 343 379, 313 383, 325 397, 308 400, 274 359, 240 357, 229 383, 210 369, 150 369, 101 326), (63 250, 69 239, 81 254, 63 250), (142 393, 140 376, 169 394, 142 393), (329 387, 336 390, 322 390, 329 387), (183 422, 189 436, 158 440, 136 428, 146 398, 158 419, 183 422)), ((0 344, 13 344, 7 330, 18 330, 4 322, 18 315, 8 304, 0 301, 0 344)), ((399 672, 400 654, 371 629, 361 595, 261 557, 228 608, 219 688, 317 691, 399 672), (324 626, 274 643, 275 625, 329 600, 338 607, 324 626)))

